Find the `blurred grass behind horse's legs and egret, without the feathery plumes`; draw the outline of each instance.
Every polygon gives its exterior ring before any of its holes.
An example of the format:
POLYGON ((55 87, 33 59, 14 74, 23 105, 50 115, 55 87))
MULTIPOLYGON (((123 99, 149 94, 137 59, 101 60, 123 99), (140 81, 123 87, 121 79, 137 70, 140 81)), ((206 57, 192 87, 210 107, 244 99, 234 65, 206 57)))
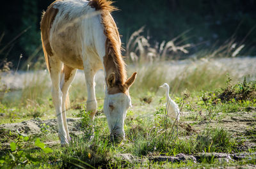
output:
MULTIPOLYGON (((159 85, 164 82, 170 84, 172 93, 174 92, 177 96, 180 96, 183 91, 199 92, 204 89, 211 90, 224 86, 228 71, 220 69, 221 73, 217 73, 212 66, 214 65, 209 62, 191 62, 188 66, 180 68, 180 73, 178 71, 177 75, 166 73, 176 67, 164 63, 136 68, 128 66, 129 75, 134 69, 138 71, 138 78, 131 87, 131 96, 133 99, 146 99, 146 102, 151 102, 159 92, 159 85)), ((49 119, 55 117, 55 114, 52 114, 54 108, 51 101, 51 82, 47 74, 44 71, 29 72, 24 76, 21 89, 8 91, 5 94, 0 104, 0 113, 4 113, 6 118, 1 119, 0 124, 11 121, 19 122, 19 118, 49 119), (8 121, 8 119, 12 120, 8 121)), ((74 112, 72 109, 83 107, 86 102, 86 84, 83 74, 79 73, 79 76, 82 77, 77 78, 70 87, 71 110, 68 112, 68 117, 72 116, 74 112)), ((102 107, 104 84, 100 78, 96 80, 96 84, 98 105, 102 107)))

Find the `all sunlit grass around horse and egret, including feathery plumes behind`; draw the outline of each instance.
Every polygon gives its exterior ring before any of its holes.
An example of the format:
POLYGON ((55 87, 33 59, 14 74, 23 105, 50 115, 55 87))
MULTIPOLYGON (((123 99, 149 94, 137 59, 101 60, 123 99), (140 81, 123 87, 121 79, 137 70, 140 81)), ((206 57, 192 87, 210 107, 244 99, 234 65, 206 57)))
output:
MULTIPOLYGON (((237 101, 236 98, 232 98, 227 102, 214 102, 218 94, 216 89, 223 90, 223 87, 227 85, 227 79, 232 78, 233 84, 241 80, 239 79, 241 75, 238 76, 238 71, 234 71, 232 66, 226 66, 225 63, 220 64, 220 61, 215 62, 214 59, 211 59, 216 55, 220 57, 226 54, 233 41, 219 50, 204 52, 200 55, 204 59, 171 61, 170 58, 173 57, 170 54, 176 56, 180 54, 174 51, 174 48, 177 48, 174 45, 175 40, 168 43, 163 42, 163 47, 160 45, 155 49, 143 36, 134 40, 127 50, 127 57, 130 59, 130 63, 127 65, 127 74, 129 77, 134 71, 137 71, 138 75, 130 89, 133 107, 129 109, 125 119, 125 140, 115 143, 109 139, 108 124, 106 117, 102 114, 105 95, 102 71, 99 71, 95 78, 98 114, 93 126, 90 126, 90 118, 85 112, 86 82, 83 71, 79 71, 70 87, 71 104, 67 110, 67 117, 81 117, 79 120, 81 125, 79 124, 77 127, 83 129, 83 135, 72 135, 70 145, 62 148, 58 145, 58 149, 54 149, 51 154, 45 155, 42 152, 31 151, 34 156, 43 157, 43 161, 39 165, 29 164, 26 166, 27 168, 214 167, 223 165, 223 163, 214 158, 210 160, 202 158, 199 164, 189 160, 180 163, 166 163, 149 161, 148 157, 177 156, 177 154, 196 154, 198 152, 239 152, 239 145, 243 143, 243 140, 237 142, 230 131, 219 123, 213 127, 205 125, 194 128, 200 122, 220 122, 227 115, 235 116, 237 112, 244 111, 245 107, 256 106, 255 99, 237 101), (146 50, 148 45, 150 48, 146 50), (131 51, 132 47, 134 50, 138 47, 137 52, 131 51), (168 52, 167 49, 172 52, 168 52), (131 61, 132 54, 135 58, 133 61, 131 61), (170 96, 178 103, 180 110, 186 112, 180 117, 178 127, 173 124, 171 119, 164 118, 164 91, 159 89, 159 85, 163 83, 170 85, 170 96), (92 128, 94 129, 93 138, 90 137, 92 128), (128 154, 127 156, 131 159, 125 158, 124 154, 128 154)), ((179 47, 179 52, 188 52, 186 48, 189 47, 189 44, 184 45, 179 47)), ((42 65, 39 67, 41 68, 42 65)), ((0 98, 0 114, 3 115, 3 118, 1 117, 0 124, 21 122, 38 117, 40 119, 56 118, 52 104, 49 73, 40 69, 28 69, 23 77, 18 89, 4 89, 4 94, 1 93, 3 97, 0 98)), ((2 88, 1 90, 3 91, 2 88)), ((252 130, 249 133, 253 132, 252 130)), ((8 138, 8 133, 5 135, 8 138)), ((38 137, 42 138, 44 142, 58 140, 55 133, 52 135, 44 133, 38 137)), ((5 138, 5 140, 8 139, 5 138)), ((250 149, 248 152, 255 152, 255 150, 250 149)), ((241 163, 253 164, 250 160, 244 160, 241 163)))

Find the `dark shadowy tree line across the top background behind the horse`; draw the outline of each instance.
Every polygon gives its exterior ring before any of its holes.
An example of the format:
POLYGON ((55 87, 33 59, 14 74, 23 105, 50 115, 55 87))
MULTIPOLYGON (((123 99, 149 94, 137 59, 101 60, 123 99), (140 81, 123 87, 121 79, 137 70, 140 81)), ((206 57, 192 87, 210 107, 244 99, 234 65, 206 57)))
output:
MULTIPOLYGON (((19 55, 25 58, 42 55, 40 50, 40 18, 51 0, 4 1, 0 10, 0 51, 22 31, 0 53, 1 60, 17 61, 19 55), (1 36, 0 36, 1 38, 1 36)), ((141 26, 145 34, 154 41, 171 40, 184 31, 186 43, 207 41, 208 46, 219 45, 235 34, 237 41, 246 37, 246 47, 255 54, 256 44, 256 1, 254 0, 117 0, 120 11, 113 17, 122 34, 122 42, 141 26), (250 33, 250 34, 248 34, 250 33), (248 36, 246 36, 248 35, 248 36)), ((199 50, 199 49, 198 49, 199 50)), ((32 58, 33 59, 33 58, 32 58)), ((33 61, 33 60, 32 60, 33 61)))

